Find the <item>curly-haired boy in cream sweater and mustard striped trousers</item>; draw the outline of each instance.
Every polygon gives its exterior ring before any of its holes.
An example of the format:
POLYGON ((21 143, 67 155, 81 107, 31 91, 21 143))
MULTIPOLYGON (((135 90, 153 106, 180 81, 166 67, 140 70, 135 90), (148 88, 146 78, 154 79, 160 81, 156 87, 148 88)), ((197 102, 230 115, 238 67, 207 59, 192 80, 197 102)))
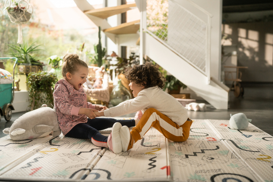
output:
POLYGON ((146 62, 128 68, 124 75, 130 80, 129 87, 135 98, 94 112, 97 116, 116 117, 142 110, 143 115, 131 132, 127 126, 120 127, 122 151, 131 149, 151 127, 174 142, 187 140, 192 120, 188 118, 186 108, 162 90, 165 82, 161 72, 150 62, 146 62))

